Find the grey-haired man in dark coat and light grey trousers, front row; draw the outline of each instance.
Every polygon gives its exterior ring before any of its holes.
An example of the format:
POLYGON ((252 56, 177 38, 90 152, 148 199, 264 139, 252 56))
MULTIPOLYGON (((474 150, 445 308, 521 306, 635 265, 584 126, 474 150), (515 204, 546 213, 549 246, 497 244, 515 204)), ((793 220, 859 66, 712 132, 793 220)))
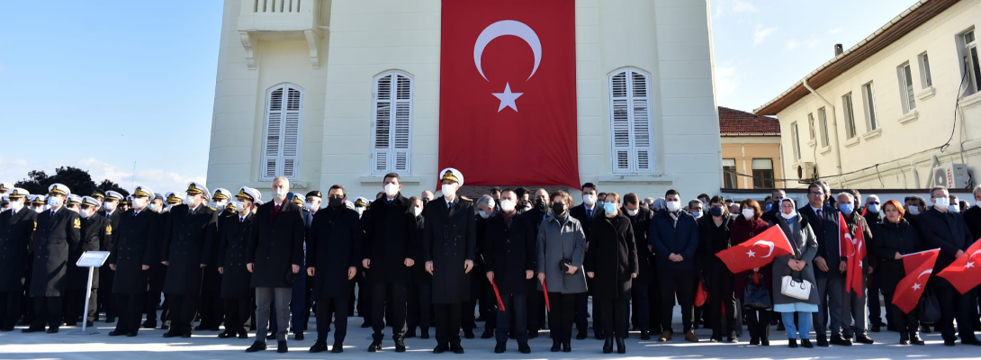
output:
POLYGON ((245 267, 252 273, 257 306, 255 342, 245 349, 246 352, 266 349, 266 332, 274 297, 280 326, 276 333, 277 352, 288 351, 286 330, 289 329, 289 302, 292 285, 303 261, 303 236, 306 230, 300 207, 286 200, 289 180, 276 178, 271 189, 273 201, 260 206, 252 217, 252 239, 245 254, 245 267))

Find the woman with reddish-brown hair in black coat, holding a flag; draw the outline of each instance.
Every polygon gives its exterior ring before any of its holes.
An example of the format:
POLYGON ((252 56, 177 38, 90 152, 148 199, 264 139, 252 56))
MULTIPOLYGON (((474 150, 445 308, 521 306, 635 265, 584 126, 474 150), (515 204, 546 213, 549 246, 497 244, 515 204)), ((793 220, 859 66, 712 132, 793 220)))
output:
MULTIPOLYGON (((874 228, 872 251, 879 257, 879 268, 875 273, 879 277, 882 292, 886 294, 886 298, 891 298, 897 284, 906 274, 903 255, 922 251, 924 246, 919 233, 903 218, 903 205, 899 201, 886 201, 882 211, 886 214, 886 219, 874 228)), ((900 343, 924 344, 919 337, 919 307, 904 314, 896 305, 889 306, 893 307, 893 319, 889 322, 900 332, 900 343)))

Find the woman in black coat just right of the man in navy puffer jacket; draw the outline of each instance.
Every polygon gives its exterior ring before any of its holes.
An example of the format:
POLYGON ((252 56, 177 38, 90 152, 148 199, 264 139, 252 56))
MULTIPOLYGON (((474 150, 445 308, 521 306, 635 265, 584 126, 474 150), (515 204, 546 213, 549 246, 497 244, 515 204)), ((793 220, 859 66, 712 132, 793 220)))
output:
POLYGON ((726 342, 737 342, 736 332, 741 326, 736 317, 736 291, 734 288, 733 273, 729 272, 729 267, 715 256, 719 251, 729 249, 730 231, 735 218, 729 215, 729 207, 725 206, 725 199, 715 195, 708 201, 708 211, 710 216, 698 219, 698 245, 701 246, 703 258, 700 263, 705 271, 708 284, 708 309, 711 317, 712 336, 711 342, 722 342, 722 314, 721 309, 725 309, 725 321, 727 329, 726 342))

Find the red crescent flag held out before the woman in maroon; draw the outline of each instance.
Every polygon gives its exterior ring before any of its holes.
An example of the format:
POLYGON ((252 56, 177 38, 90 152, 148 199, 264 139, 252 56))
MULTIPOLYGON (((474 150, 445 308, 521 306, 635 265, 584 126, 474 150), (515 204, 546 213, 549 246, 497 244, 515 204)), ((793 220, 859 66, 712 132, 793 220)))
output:
POLYGON ((780 227, 770 227, 741 244, 715 253, 733 274, 762 268, 777 256, 794 253, 794 246, 780 227))

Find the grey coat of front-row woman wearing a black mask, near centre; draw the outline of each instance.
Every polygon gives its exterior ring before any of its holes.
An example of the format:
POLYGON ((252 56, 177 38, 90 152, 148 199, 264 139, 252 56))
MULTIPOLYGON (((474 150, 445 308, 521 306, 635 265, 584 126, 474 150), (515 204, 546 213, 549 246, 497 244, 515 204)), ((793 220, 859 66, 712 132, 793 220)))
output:
MULTIPOLYGON (((579 221, 571 216, 564 222, 555 216, 546 218, 539 226, 537 252, 538 273, 544 273, 548 292, 586 292, 586 274, 583 272, 586 234, 579 221), (579 271, 565 274, 561 266, 563 259, 569 260, 579 271)), ((539 283, 539 289, 542 289, 542 283, 539 283)))

